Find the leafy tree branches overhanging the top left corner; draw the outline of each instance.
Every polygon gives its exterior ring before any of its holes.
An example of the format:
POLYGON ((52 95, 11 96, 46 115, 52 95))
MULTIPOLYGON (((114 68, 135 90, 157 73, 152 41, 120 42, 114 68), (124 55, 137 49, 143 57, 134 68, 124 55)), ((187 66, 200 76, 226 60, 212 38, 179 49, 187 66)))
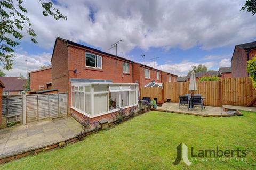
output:
MULTIPOLYGON (((67 16, 62 15, 52 2, 38 1, 43 8, 43 15, 51 15, 55 20, 67 20, 67 16)), ((31 37, 31 41, 38 44, 36 33, 31 27, 29 18, 26 16, 27 10, 23 7, 22 0, 1 0, 0 1, 0 62, 4 64, 4 69, 10 70, 13 65, 14 48, 19 45, 23 38, 22 30, 31 37)))

